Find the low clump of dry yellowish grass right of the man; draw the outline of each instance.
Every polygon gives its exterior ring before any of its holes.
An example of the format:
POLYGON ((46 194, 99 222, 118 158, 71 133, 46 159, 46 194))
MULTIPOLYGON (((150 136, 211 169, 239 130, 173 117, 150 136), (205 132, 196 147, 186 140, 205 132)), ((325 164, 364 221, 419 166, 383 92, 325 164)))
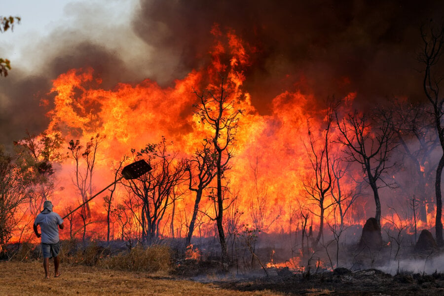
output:
POLYGON ((136 246, 129 253, 121 253, 100 260, 99 266, 108 269, 164 272, 172 270, 171 250, 167 246, 154 245, 148 248, 136 246))

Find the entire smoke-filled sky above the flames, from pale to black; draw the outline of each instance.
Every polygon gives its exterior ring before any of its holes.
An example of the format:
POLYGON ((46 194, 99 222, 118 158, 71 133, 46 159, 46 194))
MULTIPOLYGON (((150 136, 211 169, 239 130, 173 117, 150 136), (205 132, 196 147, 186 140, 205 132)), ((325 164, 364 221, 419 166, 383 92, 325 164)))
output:
POLYGON ((357 92, 373 102, 422 100, 419 28, 441 21, 444 1, 2 1, 21 16, 0 35, 13 69, 0 78, 0 143, 43 131, 51 80, 92 67, 102 87, 145 78, 162 86, 204 66, 215 26, 249 44, 245 87, 261 114, 283 91, 316 98, 357 92))

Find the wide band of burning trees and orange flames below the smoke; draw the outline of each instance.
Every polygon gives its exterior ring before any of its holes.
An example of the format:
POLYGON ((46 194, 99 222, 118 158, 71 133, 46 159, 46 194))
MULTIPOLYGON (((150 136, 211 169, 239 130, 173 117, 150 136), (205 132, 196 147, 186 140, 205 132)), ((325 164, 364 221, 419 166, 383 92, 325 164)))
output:
POLYGON ((13 156, 0 151, 2 255, 37 243, 31 224, 49 199, 65 216, 66 246, 127 249, 104 259, 108 268, 144 270, 131 256, 161 245, 189 276, 211 262, 267 276, 440 272, 444 31, 430 30, 421 103, 295 87, 261 114, 244 86, 259 49, 217 25, 210 62, 169 87, 101 88, 92 68, 60 74, 42 101, 45 130, 15 142, 13 156), (141 160, 150 170, 121 178, 141 160))

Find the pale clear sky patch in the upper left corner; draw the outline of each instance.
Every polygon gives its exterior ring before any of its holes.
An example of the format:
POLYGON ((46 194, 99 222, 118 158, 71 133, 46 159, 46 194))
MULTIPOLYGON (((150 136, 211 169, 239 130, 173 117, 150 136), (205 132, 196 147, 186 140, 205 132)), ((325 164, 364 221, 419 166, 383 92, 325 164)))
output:
MULTIPOLYGON (((11 60, 13 68, 35 65, 27 60, 33 43, 57 29, 81 31, 85 36, 100 39, 104 30, 128 27, 131 13, 138 5, 137 0, 0 0, 0 3, 1 16, 21 17, 13 32, 8 30, 0 35, 0 56, 11 60)), ((35 55, 32 56, 34 59, 35 55)))

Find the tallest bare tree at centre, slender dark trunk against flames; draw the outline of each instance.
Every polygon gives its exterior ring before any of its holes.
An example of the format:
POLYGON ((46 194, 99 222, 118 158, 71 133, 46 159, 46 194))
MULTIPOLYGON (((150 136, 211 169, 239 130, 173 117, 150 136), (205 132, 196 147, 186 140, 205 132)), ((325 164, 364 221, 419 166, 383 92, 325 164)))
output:
POLYGON ((210 85, 201 93, 194 92, 199 98, 196 105, 196 114, 200 116, 202 123, 209 124, 212 134, 208 141, 213 144, 216 150, 216 170, 217 170, 217 195, 216 202, 216 223, 218 226, 219 241, 221 244, 222 269, 228 262, 227 245, 223 230, 223 185, 222 178, 224 172, 229 168, 228 161, 233 157, 233 146, 238 127, 239 116, 242 110, 236 108, 234 93, 235 86, 229 79, 221 78, 220 86, 210 85))

